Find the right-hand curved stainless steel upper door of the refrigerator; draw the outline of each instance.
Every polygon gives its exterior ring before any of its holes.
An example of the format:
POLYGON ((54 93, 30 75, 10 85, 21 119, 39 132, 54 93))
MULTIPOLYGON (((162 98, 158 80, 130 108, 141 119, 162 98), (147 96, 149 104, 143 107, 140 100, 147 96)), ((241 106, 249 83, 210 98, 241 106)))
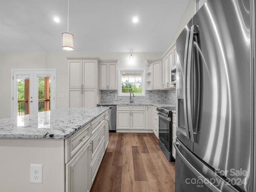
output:
POLYGON ((193 152, 249 192, 250 0, 208 0, 193 22, 193 152))

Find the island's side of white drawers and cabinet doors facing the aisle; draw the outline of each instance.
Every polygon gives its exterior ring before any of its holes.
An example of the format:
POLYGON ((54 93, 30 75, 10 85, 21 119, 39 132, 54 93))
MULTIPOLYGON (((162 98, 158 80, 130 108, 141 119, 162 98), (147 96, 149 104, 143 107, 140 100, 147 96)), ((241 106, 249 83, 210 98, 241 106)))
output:
POLYGON ((108 111, 65 139, 66 192, 89 192, 108 145, 108 111))

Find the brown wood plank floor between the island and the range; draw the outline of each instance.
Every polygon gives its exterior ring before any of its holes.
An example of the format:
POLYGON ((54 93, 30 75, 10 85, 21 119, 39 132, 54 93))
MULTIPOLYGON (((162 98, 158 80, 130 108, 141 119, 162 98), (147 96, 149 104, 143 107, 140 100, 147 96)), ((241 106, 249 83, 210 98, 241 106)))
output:
POLYGON ((90 192, 174 192, 175 162, 154 133, 109 133, 108 148, 90 192))

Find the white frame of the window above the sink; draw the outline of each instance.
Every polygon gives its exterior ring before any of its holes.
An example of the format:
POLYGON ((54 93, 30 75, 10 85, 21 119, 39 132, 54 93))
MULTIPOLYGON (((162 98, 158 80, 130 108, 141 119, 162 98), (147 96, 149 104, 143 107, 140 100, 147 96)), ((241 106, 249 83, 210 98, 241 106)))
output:
POLYGON ((134 93, 134 96, 146 96, 146 69, 118 69, 118 96, 130 96, 130 93, 122 93, 122 73, 142 73, 141 93, 134 93))

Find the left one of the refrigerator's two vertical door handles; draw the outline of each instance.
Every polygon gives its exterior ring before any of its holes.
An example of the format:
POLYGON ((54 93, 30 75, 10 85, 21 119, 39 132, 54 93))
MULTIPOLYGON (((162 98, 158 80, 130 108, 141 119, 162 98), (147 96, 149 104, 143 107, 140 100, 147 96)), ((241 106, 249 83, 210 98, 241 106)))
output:
POLYGON ((190 139, 189 128, 188 128, 188 109, 187 109, 187 61, 188 61, 188 46, 189 46, 189 34, 190 30, 187 31, 186 44, 185 44, 185 54, 184 54, 184 72, 183 72, 183 97, 184 97, 184 119, 186 128, 186 137, 190 139))

